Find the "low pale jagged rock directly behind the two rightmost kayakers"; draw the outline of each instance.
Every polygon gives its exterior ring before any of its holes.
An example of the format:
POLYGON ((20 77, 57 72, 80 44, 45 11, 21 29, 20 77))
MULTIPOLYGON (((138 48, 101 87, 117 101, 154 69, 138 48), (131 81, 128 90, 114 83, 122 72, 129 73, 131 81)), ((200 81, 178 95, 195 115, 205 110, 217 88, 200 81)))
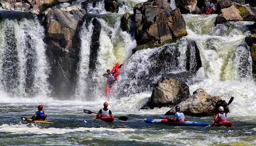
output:
MULTIPOLYGON (((219 100, 222 100, 221 97, 211 96, 204 89, 198 88, 193 92, 192 96, 178 105, 180 105, 181 111, 185 115, 212 116, 215 114, 215 105, 219 100)), ((174 115, 175 106, 165 115, 174 115)))

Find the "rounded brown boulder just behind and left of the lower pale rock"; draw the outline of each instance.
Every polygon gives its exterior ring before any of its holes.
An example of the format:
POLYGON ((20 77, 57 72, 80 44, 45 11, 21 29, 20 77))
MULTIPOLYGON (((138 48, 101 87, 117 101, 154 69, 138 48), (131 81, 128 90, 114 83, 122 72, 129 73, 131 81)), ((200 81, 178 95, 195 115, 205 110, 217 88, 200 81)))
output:
POLYGON ((169 107, 179 104, 190 96, 189 87, 176 78, 163 77, 157 87, 153 89, 152 95, 146 105, 142 108, 169 107))

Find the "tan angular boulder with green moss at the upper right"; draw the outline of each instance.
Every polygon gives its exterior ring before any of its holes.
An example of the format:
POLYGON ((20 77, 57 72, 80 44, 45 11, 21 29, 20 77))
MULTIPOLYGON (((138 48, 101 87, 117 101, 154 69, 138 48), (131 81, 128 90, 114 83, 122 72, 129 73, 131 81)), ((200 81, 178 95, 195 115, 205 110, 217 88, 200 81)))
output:
POLYGON ((221 14, 219 14, 215 20, 215 24, 225 23, 227 21, 255 21, 255 13, 248 6, 241 6, 238 4, 233 4, 229 8, 221 9, 221 14))

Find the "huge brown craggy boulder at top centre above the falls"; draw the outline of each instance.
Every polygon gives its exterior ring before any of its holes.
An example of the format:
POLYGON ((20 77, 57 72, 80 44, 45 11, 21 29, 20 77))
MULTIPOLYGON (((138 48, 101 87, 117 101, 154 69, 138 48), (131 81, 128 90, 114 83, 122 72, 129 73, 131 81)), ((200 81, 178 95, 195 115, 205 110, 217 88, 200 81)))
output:
POLYGON ((172 9, 165 0, 148 0, 133 8, 135 39, 138 45, 163 44, 187 35, 179 9, 172 9))

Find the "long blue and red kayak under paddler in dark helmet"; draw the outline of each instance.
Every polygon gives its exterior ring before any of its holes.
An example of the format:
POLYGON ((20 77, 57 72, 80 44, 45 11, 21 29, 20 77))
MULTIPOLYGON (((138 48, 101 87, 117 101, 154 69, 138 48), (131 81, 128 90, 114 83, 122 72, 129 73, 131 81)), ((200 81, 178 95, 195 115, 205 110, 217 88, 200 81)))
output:
POLYGON ((186 121, 184 123, 169 122, 168 119, 144 119, 146 123, 163 123, 173 126, 208 126, 209 123, 186 121))

